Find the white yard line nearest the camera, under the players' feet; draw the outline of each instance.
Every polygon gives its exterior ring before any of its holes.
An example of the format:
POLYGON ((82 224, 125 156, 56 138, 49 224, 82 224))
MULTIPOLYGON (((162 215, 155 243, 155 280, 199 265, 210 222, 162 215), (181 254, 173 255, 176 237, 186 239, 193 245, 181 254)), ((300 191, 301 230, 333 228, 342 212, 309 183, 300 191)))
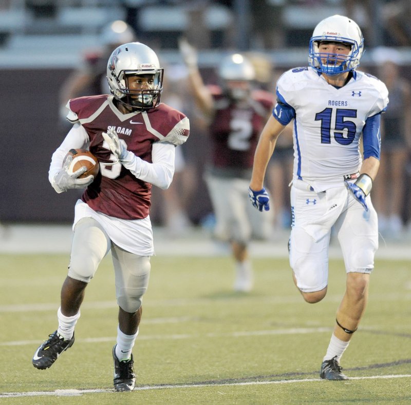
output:
MULTIPOLYGON (((390 374, 390 375, 375 375, 365 377, 351 377, 350 380, 369 380, 369 379, 394 379, 394 378, 410 378, 411 374, 390 374)), ((170 384, 170 385, 144 385, 136 387, 134 391, 147 390, 165 390, 165 389, 186 389, 186 388, 203 388, 203 387, 233 387, 241 385, 268 385, 268 384, 296 384, 300 382, 317 382, 324 381, 321 378, 306 378, 292 380, 275 380, 275 381, 242 381, 242 382, 223 382, 223 383, 193 383, 193 384, 170 384)), ((32 391, 32 392, 4 392, 0 393, 0 398, 16 398, 16 397, 38 397, 38 396, 80 396, 83 394, 98 394, 114 392, 113 389, 95 389, 95 390, 55 390, 55 391, 32 391)))

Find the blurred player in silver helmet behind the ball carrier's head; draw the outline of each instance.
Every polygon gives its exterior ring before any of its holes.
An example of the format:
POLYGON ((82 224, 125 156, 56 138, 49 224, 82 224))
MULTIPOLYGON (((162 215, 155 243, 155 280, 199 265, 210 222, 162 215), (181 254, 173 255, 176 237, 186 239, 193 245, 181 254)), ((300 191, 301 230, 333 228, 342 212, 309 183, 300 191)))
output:
POLYGON ((83 65, 68 77, 60 89, 61 118, 64 123, 67 122, 68 100, 83 95, 110 93, 106 78, 108 57, 118 46, 134 41, 137 41, 135 32, 124 21, 113 21, 103 27, 100 47, 84 55, 83 65))

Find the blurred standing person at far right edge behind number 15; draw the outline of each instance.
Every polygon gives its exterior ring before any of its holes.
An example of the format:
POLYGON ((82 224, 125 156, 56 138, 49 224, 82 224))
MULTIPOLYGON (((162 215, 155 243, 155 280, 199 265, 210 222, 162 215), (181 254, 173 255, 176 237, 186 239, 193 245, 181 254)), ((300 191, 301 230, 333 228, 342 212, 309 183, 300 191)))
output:
POLYGON ((380 233, 383 237, 399 238, 403 230, 406 164, 411 150, 411 86, 400 74, 397 50, 376 48, 372 58, 378 67, 378 78, 389 91, 389 108, 381 115, 383 147, 379 176, 372 192, 376 196, 380 233))

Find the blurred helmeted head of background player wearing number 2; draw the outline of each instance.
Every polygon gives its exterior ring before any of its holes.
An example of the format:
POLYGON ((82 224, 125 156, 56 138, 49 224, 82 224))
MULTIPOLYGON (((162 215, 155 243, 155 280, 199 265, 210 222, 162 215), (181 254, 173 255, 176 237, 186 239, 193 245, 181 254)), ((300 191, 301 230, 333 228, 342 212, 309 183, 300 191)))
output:
POLYGON ((251 82, 255 80, 255 69, 246 56, 234 53, 221 61, 218 66, 218 76, 230 97, 242 100, 250 93, 251 82), (244 85, 235 85, 230 82, 243 82, 244 85))

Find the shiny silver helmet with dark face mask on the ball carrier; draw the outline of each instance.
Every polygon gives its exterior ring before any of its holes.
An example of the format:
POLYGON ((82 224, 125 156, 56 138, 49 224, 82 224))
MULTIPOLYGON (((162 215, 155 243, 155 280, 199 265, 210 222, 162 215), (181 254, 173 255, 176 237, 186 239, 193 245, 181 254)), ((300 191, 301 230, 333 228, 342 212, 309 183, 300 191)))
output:
POLYGON ((108 59, 107 81, 111 93, 121 103, 134 109, 147 110, 160 103, 163 73, 156 53, 147 45, 131 42, 117 47, 108 59), (130 90, 127 75, 153 74, 150 90, 130 90))

